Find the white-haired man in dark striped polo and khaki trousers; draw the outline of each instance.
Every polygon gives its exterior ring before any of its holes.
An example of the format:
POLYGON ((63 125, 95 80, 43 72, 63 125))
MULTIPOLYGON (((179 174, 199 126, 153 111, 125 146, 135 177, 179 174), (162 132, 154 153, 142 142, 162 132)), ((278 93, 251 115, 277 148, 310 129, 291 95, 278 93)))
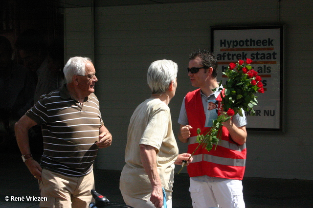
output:
POLYGON ((22 159, 39 180, 44 208, 88 208, 94 189, 93 162, 98 148, 109 147, 112 135, 104 126, 98 81, 91 60, 72 57, 64 67, 67 84, 40 100, 16 123, 16 139, 22 159), (28 129, 41 125, 44 153, 41 163, 32 158, 28 129))

